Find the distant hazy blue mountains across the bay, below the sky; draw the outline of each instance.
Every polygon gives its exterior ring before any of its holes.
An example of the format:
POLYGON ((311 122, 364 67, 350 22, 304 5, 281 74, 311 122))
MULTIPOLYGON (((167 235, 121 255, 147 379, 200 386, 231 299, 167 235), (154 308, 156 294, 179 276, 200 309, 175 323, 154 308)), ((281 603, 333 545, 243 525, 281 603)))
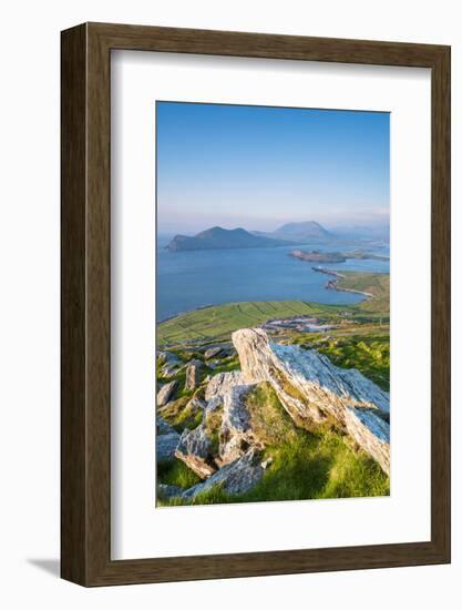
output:
POLYGON ((245 228, 214 226, 193 237, 176 235, 166 246, 172 252, 192 250, 229 250, 247 247, 277 247, 294 243, 325 242, 333 236, 320 224, 309 221, 289 223, 273 233, 248 232, 245 228))

